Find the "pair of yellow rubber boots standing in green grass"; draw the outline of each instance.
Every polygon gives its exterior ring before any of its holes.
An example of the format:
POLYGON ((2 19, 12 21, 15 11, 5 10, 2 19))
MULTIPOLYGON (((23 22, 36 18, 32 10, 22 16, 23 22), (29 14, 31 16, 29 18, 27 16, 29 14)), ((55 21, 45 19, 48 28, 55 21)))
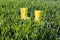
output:
MULTIPOLYGON (((28 17, 28 8, 20 8, 21 11, 21 19, 30 19, 30 17, 28 17)), ((35 14, 35 21, 40 21, 41 17, 42 17, 42 11, 40 10, 35 10, 34 12, 35 14)))

